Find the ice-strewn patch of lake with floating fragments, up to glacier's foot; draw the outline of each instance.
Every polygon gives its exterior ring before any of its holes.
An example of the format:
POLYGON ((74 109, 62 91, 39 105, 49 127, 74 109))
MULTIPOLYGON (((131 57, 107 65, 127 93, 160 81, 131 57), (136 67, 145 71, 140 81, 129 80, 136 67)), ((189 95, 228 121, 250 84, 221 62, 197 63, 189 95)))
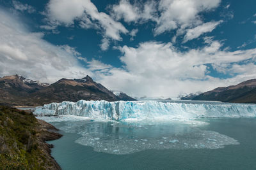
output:
POLYGON ((236 139, 214 131, 203 131, 198 121, 172 122, 61 122, 61 130, 80 134, 76 143, 97 152, 129 154, 148 149, 223 148, 238 145, 236 139))

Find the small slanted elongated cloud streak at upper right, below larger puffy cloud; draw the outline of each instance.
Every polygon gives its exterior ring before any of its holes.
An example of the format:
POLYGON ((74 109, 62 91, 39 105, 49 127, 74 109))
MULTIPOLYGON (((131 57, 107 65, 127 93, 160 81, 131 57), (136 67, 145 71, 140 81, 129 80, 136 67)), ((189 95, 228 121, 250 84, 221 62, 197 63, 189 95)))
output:
POLYGON ((198 25, 193 29, 188 29, 186 35, 184 36, 183 42, 185 43, 191 39, 198 38, 200 35, 204 34, 205 32, 212 32, 212 30, 214 30, 217 27, 217 25, 219 25, 221 22, 223 21, 220 20, 218 22, 207 22, 202 25, 198 25))

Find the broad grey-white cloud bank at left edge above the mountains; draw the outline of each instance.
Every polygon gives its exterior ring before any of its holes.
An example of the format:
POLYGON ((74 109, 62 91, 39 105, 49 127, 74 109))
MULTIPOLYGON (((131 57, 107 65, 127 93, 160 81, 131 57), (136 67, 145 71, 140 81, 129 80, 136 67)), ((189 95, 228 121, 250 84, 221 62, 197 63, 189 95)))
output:
POLYGON ((0 11, 0 76, 21 74, 34 80, 54 82, 92 74, 79 66, 70 46, 54 46, 43 34, 29 32, 8 12, 0 11))

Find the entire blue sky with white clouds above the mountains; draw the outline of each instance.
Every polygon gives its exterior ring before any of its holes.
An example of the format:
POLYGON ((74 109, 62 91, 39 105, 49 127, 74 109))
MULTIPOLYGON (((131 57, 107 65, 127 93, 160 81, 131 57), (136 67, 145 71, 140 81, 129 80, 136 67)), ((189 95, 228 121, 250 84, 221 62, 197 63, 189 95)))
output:
POLYGON ((0 0, 0 76, 87 74, 132 97, 256 78, 255 0, 0 0))

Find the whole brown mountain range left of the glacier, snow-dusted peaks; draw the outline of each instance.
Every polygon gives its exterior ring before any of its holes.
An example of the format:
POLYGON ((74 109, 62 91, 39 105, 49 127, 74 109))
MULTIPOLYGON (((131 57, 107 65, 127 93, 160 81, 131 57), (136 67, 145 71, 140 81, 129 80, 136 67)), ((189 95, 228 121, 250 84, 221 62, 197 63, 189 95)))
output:
MULTIPOLYGON (((20 75, 0 78, 0 103, 10 106, 38 106, 62 101, 84 100, 132 100, 126 94, 116 96, 100 83, 86 76, 81 79, 67 79, 52 83, 40 83, 26 79, 20 75)), ((135 100, 135 99, 133 99, 135 100)))

